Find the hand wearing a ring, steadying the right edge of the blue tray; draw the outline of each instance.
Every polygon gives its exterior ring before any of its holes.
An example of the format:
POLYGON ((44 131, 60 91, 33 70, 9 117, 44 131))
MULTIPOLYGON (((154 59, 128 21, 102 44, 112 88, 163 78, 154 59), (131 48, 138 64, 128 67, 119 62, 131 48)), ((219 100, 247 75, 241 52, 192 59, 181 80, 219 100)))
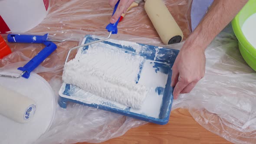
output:
POLYGON ((199 43, 190 42, 188 38, 173 65, 171 86, 175 86, 174 99, 179 94, 189 93, 205 73, 204 49, 198 48, 199 43))

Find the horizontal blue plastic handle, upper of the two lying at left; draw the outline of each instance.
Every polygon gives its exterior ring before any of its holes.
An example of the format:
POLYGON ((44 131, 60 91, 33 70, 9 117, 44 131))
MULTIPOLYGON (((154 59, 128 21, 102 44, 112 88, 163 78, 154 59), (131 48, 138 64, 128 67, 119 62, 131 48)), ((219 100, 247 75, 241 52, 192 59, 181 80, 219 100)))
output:
POLYGON ((10 43, 45 43, 48 39, 48 33, 43 36, 8 34, 7 40, 10 43))

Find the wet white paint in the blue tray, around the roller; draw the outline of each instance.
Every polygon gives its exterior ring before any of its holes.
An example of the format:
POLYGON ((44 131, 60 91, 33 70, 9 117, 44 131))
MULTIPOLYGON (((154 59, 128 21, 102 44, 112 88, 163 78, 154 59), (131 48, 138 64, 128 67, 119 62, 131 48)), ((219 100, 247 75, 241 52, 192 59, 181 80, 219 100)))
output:
MULTIPOLYGON (((120 44, 122 46, 131 46, 133 49, 135 49, 135 53, 141 52, 144 47, 137 43, 118 41, 114 39, 109 39, 108 41, 115 44, 120 44)), ((161 48, 159 47, 158 51, 159 49, 161 48)), ((156 60, 157 54, 158 52, 156 52, 154 60, 156 60)), ((111 75, 114 78, 124 79, 128 82, 128 85, 126 85, 128 87, 129 85, 140 85, 143 91, 145 90, 144 92, 146 92, 145 98, 143 98, 143 101, 141 101, 141 107, 129 108, 127 105, 120 104, 120 102, 118 103, 108 98, 94 95, 88 91, 82 90, 78 86, 72 85, 71 90, 73 93, 71 92, 72 94, 68 96, 63 94, 66 83, 63 83, 62 88, 60 89, 60 96, 81 101, 86 104, 106 105, 108 107, 117 108, 120 110, 130 111, 153 118, 159 118, 159 113, 161 111, 163 102, 163 93, 158 95, 156 93, 156 88, 165 88, 168 75, 162 73, 161 71, 158 71, 157 73, 155 72, 156 69, 154 68, 154 60, 144 59, 139 55, 131 56, 131 54, 128 54, 123 49, 113 48, 113 46, 105 43, 96 43, 90 45, 89 50, 86 50, 86 52, 79 49, 75 59, 79 60, 81 58, 83 59, 83 62, 85 62, 85 59, 88 61, 86 62, 86 65, 92 66, 97 70, 104 71, 106 74, 111 75), (138 84, 135 84, 141 62, 143 63, 143 69, 141 70, 138 84)))

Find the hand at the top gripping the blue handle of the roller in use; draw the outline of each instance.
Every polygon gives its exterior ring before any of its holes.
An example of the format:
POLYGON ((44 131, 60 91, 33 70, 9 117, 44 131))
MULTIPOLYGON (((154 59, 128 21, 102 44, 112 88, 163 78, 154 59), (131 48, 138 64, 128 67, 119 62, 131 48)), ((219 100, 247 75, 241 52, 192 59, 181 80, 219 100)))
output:
MULTIPOLYGON (((109 0, 109 5, 114 9, 115 4, 118 2, 118 0, 109 0)), ((110 23, 115 23, 118 18, 121 16, 122 13, 126 13, 127 9, 131 6, 131 4, 134 2, 134 0, 120 0, 118 7, 115 11, 115 14, 110 19, 110 23)))

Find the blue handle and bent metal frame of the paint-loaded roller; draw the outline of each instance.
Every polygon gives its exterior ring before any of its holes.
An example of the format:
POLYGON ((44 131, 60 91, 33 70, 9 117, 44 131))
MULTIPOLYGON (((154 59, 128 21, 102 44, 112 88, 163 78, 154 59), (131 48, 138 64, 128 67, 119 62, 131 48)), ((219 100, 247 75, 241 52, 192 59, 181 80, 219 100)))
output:
MULTIPOLYGON (((114 8, 114 11, 113 11, 112 16, 114 15, 114 13, 115 13, 115 11, 116 11, 119 2, 120 2, 120 0, 118 0, 118 2, 115 4, 115 8, 114 8)), ((120 17, 121 17, 121 16, 120 16, 120 17)), ((106 29, 107 29, 108 32, 109 32, 109 35, 108 35, 107 38, 105 38, 105 39, 100 39, 100 40, 96 40, 96 41, 94 41, 94 42, 86 43, 86 44, 83 44, 83 45, 80 45, 80 46, 76 46, 76 47, 73 47, 72 49, 70 49, 69 52, 68 52, 68 55, 67 55, 67 57, 66 57, 65 64, 66 64, 66 62, 68 62, 68 60, 69 60, 69 55, 70 55, 70 53, 71 53, 72 50, 78 49, 78 48, 84 47, 84 46, 89 46, 89 45, 94 44, 94 43, 99 43, 99 42, 105 41, 106 39, 109 39, 109 38, 110 38, 111 34, 117 34, 117 32, 118 32, 117 25, 118 25, 118 22, 119 22, 119 20, 120 20, 120 17, 118 18, 118 20, 117 20, 115 23, 109 23, 109 24, 106 26, 106 29)))

